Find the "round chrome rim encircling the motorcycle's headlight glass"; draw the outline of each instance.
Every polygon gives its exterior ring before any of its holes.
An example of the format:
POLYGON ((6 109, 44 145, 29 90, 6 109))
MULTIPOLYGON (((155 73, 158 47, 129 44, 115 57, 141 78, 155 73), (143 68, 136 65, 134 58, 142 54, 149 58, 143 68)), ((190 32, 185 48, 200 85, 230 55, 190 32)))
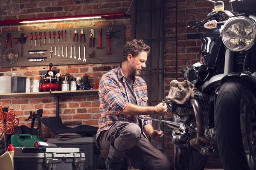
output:
POLYGON ((256 37, 256 23, 248 18, 248 17, 233 17, 233 18, 230 18, 229 20, 227 20, 227 22, 224 24, 222 30, 221 30, 221 38, 222 38, 222 42, 224 43, 224 45, 230 50, 230 51, 234 51, 234 52, 238 52, 238 51, 247 51, 249 50, 253 45, 254 45, 254 40, 255 40, 255 37, 256 37), (229 45, 227 45, 224 41, 224 32, 227 30, 227 28, 230 28, 230 26, 232 26, 233 24, 235 23, 238 23, 238 22, 241 22, 241 21, 246 21, 246 22, 249 22, 251 24, 251 26, 253 26, 253 40, 252 42, 247 45, 246 47, 244 48, 241 48, 241 49, 234 49, 234 48, 230 48, 229 45))

